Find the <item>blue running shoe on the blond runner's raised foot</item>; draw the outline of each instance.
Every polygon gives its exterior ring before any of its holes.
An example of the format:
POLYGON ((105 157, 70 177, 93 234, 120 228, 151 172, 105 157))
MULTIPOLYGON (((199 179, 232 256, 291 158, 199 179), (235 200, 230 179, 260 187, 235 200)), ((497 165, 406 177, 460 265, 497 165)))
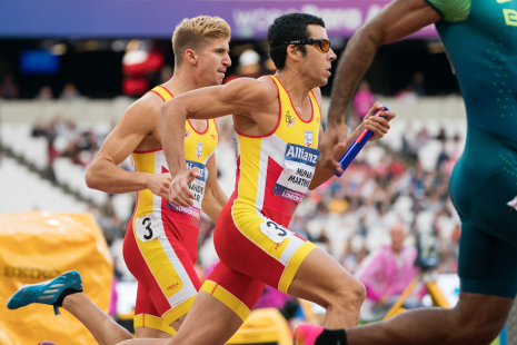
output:
POLYGON ((82 280, 79 272, 70 270, 51 280, 24 285, 9 298, 7 307, 12 310, 32 303, 41 303, 53 305, 53 312, 59 315, 59 306, 56 305, 56 302, 67 289, 82 292, 82 280))

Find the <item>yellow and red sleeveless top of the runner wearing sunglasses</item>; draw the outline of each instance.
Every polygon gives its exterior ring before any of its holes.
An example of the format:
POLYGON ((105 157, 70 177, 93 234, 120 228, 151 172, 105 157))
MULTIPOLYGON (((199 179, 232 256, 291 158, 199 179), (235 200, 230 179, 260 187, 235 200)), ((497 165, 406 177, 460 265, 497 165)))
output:
POLYGON ((318 139, 321 112, 312 91, 312 116, 304 121, 296 112, 289 93, 275 76, 280 115, 275 130, 264 136, 247 136, 236 129, 236 191, 231 215, 246 233, 267 218, 287 227, 312 179, 319 157, 318 139))

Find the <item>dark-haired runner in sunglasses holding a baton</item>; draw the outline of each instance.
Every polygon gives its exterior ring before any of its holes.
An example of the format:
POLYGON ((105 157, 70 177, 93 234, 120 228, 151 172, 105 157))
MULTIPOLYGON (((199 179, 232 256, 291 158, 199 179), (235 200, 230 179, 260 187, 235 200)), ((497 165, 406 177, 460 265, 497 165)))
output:
MULTIPOLYGON (((249 315, 265 284, 325 307, 328 328, 358 322, 362 284, 330 255, 287 229, 307 189, 334 176, 317 162, 317 147, 322 136, 319 87, 327 83, 336 55, 324 21, 311 14, 277 18, 268 41, 275 76, 191 91, 162 107, 163 149, 169 166, 175 167, 172 204, 192 205, 188 185, 196 171, 178 165, 185 159, 178 126, 187 118, 232 114, 238 152, 236 191, 215 230, 221 262, 201 287, 181 329, 167 344, 225 344, 249 315)), ((381 107, 375 105, 370 115, 381 107)), ((347 144, 362 127, 372 130, 375 138, 382 137, 395 114, 385 111, 384 116, 387 119, 369 116, 347 144)), ((336 156, 346 147, 336 146, 336 156)))

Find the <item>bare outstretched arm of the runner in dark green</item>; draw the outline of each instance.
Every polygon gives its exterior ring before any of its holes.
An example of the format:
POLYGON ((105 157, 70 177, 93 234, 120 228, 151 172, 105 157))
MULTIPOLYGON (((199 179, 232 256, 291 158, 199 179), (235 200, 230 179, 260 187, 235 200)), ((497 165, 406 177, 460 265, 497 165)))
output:
POLYGON ((345 112, 380 46, 401 39, 440 20, 440 16, 424 0, 397 0, 354 33, 339 58, 332 83, 326 141, 321 160, 332 167, 332 147, 345 141, 345 112))

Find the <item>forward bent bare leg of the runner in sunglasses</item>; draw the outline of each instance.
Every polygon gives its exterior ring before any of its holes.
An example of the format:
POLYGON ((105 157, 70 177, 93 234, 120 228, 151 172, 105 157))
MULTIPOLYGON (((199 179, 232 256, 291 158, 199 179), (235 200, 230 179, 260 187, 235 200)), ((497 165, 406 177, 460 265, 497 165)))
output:
POLYGON ((366 297, 365 286, 319 248, 304 259, 288 293, 326 308, 324 327, 329 329, 357 326, 366 297))

